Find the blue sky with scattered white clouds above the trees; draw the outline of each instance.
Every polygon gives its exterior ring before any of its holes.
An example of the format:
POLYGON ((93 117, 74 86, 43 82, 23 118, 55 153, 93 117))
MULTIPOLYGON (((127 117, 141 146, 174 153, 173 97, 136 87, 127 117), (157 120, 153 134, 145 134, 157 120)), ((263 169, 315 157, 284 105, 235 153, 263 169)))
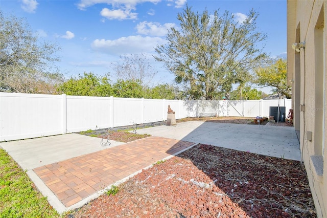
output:
POLYGON ((83 72, 104 75, 112 72, 110 66, 120 55, 145 53, 158 72, 153 81, 158 83, 172 82, 174 77, 152 59, 154 47, 165 43, 168 28, 178 28, 177 13, 186 4, 200 13, 227 10, 241 20, 255 9, 258 30, 268 36, 264 51, 286 57, 286 0, 1 0, 0 8, 5 16, 25 17, 41 39, 61 48, 56 65, 67 78, 83 72))

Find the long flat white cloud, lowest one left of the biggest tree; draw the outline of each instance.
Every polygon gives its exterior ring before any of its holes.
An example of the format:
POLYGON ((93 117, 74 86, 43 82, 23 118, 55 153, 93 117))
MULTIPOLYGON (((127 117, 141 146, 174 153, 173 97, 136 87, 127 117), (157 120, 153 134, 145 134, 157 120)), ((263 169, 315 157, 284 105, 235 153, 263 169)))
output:
POLYGON ((160 37, 143 37, 140 35, 121 37, 115 40, 96 39, 91 47, 94 50, 109 54, 126 54, 153 52, 154 47, 165 43, 166 40, 160 37))

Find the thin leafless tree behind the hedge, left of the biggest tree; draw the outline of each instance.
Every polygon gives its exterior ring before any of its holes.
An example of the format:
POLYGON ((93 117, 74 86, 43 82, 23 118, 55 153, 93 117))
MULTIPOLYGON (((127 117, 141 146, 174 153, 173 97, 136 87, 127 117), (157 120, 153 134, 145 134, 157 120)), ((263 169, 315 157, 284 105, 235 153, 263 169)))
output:
POLYGON ((120 61, 112 64, 112 69, 117 80, 138 80, 145 85, 157 74, 144 53, 121 55, 120 61))

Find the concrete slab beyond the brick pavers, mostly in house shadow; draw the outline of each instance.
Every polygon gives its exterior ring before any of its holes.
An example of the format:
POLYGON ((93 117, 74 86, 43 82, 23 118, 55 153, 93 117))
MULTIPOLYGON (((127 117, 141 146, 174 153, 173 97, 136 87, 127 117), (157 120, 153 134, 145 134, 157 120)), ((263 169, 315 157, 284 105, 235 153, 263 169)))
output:
POLYGON ((299 141, 294 128, 289 126, 189 121, 176 126, 138 129, 137 133, 211 144, 276 158, 301 159, 299 141))

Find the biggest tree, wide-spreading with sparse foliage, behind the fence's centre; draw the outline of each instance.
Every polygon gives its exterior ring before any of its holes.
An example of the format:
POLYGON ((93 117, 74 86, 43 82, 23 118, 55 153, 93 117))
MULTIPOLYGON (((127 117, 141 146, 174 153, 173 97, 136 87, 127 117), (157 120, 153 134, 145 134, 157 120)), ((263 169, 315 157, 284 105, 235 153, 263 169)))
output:
POLYGON ((155 58, 184 84, 188 98, 220 98, 239 82, 240 72, 248 74, 266 57, 263 48, 256 48, 266 39, 256 31, 257 17, 251 10, 240 24, 228 11, 199 14, 187 6, 177 16, 180 28, 169 30, 168 43, 156 47, 155 58))

